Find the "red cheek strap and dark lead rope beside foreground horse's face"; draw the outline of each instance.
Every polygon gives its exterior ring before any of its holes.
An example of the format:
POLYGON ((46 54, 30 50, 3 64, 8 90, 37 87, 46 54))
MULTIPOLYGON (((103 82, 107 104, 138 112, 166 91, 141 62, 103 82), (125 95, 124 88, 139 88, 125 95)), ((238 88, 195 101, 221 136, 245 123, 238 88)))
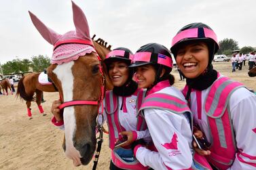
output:
MULTIPOLYGON (((99 57, 98 57, 98 59, 100 60, 99 57)), ((105 96, 105 77, 103 75, 103 69, 102 69, 101 66, 100 66, 100 73, 101 73, 103 79, 102 79, 102 86, 101 86, 101 98, 100 98, 100 104, 99 104, 99 106, 101 106, 101 107, 98 108, 97 119, 99 119, 99 117, 102 116, 102 121, 99 123, 99 121, 96 120, 96 123, 97 123, 96 129, 98 130, 100 135, 96 138, 97 148, 96 148, 95 158, 94 158, 94 161, 93 161, 94 164, 93 164, 92 170, 96 170, 96 167, 98 165, 98 158, 100 156, 101 146, 103 144, 103 122, 104 122, 103 121, 103 110, 104 110, 103 99, 104 99, 104 96, 105 96), (101 108, 101 110, 100 110, 100 108, 101 108)))

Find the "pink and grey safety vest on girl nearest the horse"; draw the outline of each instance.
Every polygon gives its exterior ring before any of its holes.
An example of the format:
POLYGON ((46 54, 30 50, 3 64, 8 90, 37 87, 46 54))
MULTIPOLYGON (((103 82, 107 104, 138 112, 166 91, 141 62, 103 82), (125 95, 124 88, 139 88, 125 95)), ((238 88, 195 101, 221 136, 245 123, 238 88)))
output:
MULTIPOLYGON (((146 91, 143 89, 137 89, 133 95, 137 95, 136 98, 136 106, 140 106, 141 102, 145 96, 146 91)), ((107 121, 109 127, 109 148, 111 148, 111 160, 115 164, 115 166, 122 169, 138 169, 145 170, 149 169, 149 167, 144 167, 139 163, 139 161, 134 159, 134 161, 128 163, 124 161, 118 154, 114 152, 115 142, 122 138, 119 133, 121 131, 125 131, 125 129, 120 125, 119 121, 119 112, 118 112, 118 98, 113 93, 113 91, 107 91, 105 95, 105 110, 107 112, 107 121)), ((136 123, 136 130, 142 131, 147 128, 147 124, 145 123, 145 119, 142 116, 138 116, 136 123)), ((125 149, 125 148, 124 148, 125 149)), ((128 148, 130 149, 130 148, 128 148)))

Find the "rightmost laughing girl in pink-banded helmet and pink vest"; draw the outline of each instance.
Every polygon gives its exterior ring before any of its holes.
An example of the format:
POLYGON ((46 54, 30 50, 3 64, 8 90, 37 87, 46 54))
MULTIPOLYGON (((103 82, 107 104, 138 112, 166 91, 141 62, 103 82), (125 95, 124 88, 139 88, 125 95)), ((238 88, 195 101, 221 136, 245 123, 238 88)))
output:
POLYGON ((217 169, 256 169, 256 95, 213 70, 218 49, 214 31, 202 23, 184 26, 172 39, 170 50, 186 78, 183 94, 204 133, 194 134, 209 143, 195 149, 217 169))

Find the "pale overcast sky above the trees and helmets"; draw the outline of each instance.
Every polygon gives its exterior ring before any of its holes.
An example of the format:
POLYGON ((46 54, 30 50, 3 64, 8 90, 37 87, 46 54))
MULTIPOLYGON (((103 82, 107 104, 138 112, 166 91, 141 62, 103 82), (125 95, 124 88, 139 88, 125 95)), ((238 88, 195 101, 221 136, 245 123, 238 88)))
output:
MULTIPOLYGON (((146 43, 156 42, 170 48, 179 28, 191 22, 211 26, 219 40, 235 39, 239 47, 256 47, 256 1, 251 0, 74 0, 83 9, 91 36, 105 39, 115 47, 133 52, 146 43)), ((71 1, 1 1, 0 62, 17 57, 52 56, 48 44, 33 26, 28 10, 47 26, 63 34, 74 30, 71 1)), ((112 49, 113 49, 112 48, 112 49)))

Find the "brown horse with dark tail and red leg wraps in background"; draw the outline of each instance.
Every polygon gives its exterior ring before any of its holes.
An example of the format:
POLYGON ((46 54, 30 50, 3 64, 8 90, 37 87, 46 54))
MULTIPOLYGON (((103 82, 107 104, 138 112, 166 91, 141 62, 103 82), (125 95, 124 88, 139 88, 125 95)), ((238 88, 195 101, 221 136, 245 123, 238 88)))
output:
POLYGON ((18 82, 16 97, 20 96, 21 100, 26 101, 26 110, 30 119, 32 119, 31 102, 36 102, 39 111, 43 116, 46 114, 41 106, 41 98, 43 91, 55 92, 57 91, 52 84, 42 85, 39 83, 39 75, 41 72, 32 72, 29 75, 25 75, 18 82))

